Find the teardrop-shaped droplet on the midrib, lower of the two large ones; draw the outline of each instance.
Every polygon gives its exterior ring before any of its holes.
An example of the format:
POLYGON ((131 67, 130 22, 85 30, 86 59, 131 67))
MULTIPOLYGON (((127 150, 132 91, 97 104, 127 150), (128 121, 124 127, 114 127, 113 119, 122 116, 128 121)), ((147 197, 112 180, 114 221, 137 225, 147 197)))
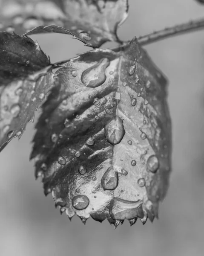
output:
POLYGON ((101 185, 104 190, 114 190, 118 186, 118 172, 110 166, 101 178, 101 185))

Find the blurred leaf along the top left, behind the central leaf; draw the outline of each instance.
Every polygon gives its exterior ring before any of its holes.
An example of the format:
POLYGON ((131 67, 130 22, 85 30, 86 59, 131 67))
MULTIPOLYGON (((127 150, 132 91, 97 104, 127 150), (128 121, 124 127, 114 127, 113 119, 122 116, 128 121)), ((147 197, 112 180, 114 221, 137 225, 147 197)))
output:
POLYGON ((2 0, 0 6, 0 29, 71 34, 94 48, 120 42, 117 28, 128 12, 127 0, 2 0))

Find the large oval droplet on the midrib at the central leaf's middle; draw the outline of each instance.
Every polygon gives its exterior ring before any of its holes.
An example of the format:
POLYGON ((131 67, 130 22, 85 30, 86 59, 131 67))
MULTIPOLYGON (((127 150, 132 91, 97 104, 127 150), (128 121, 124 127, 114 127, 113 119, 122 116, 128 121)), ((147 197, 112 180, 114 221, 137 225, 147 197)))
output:
POLYGON ((108 122, 104 129, 107 141, 112 145, 120 143, 125 135, 123 120, 118 116, 108 122))

